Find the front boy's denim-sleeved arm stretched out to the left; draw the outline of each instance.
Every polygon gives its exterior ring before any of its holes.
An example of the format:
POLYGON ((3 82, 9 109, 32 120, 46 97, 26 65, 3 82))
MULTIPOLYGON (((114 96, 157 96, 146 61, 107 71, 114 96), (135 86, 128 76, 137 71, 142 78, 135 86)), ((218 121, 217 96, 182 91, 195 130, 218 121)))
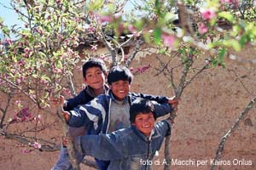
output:
POLYGON ((114 133, 99 135, 84 135, 81 137, 81 147, 86 156, 108 161, 124 157, 124 144, 114 133))

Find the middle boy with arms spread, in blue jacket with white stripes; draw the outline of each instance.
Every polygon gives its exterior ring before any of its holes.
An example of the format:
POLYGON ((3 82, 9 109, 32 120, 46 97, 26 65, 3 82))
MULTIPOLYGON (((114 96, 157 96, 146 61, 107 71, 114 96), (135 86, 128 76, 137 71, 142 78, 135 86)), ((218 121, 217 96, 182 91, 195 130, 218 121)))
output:
MULTIPOLYGON (((129 127, 129 110, 131 102, 137 98, 159 102, 155 105, 155 114, 164 116, 177 107, 177 100, 146 94, 130 93, 132 74, 125 67, 114 66, 108 72, 108 94, 99 95, 87 105, 79 105, 73 111, 63 112, 67 124, 71 127, 82 127, 89 123, 87 134, 112 133, 120 128, 129 127), (169 104, 172 105, 169 105, 169 104)), ((97 161, 100 169, 108 167, 106 161, 97 161)))

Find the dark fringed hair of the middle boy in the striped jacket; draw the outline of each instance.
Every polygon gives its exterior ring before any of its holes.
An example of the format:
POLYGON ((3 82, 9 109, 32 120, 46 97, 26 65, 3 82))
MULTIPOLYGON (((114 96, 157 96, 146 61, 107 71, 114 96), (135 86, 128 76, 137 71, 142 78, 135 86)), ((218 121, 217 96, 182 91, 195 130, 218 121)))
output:
POLYGON ((119 80, 128 81, 131 84, 133 76, 131 71, 125 66, 113 66, 108 72, 108 84, 112 82, 118 82, 119 80))

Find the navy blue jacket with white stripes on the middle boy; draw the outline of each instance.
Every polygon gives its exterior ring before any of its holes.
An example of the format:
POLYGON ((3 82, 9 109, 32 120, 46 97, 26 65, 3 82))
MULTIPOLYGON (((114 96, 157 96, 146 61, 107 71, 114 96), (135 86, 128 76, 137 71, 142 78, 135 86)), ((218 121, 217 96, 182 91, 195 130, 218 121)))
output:
MULTIPOLYGON (((154 104, 157 117, 165 116, 172 111, 172 105, 167 104, 168 99, 166 97, 129 93, 127 98, 130 104, 137 98, 159 102, 154 104)), ((99 95, 86 105, 79 105, 73 111, 69 111, 68 125, 70 127, 82 127, 93 122, 93 126, 87 129, 88 134, 107 133, 110 121, 109 111, 113 100, 114 97, 110 90, 108 94, 99 95)))

